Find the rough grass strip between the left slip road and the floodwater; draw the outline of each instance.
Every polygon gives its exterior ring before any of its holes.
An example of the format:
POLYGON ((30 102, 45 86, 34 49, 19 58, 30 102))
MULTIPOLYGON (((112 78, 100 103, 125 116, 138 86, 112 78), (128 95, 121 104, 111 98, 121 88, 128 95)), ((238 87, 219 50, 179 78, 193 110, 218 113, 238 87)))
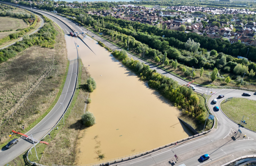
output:
MULTIPOLYGON (((63 125, 63 119, 51 132, 51 138, 46 136, 43 141, 49 143, 38 144, 36 146, 36 152, 39 160, 35 155, 35 149, 32 148, 32 155, 29 153, 29 159, 39 164, 52 165, 73 165, 75 162, 75 150, 79 143, 79 139, 84 134, 84 125, 81 121, 81 115, 84 114, 85 100, 88 96, 88 92, 85 90, 85 83, 89 74, 85 68, 82 68, 82 72, 79 72, 78 82, 79 90, 76 89, 73 100, 64 115, 65 125, 63 125), (52 155, 54 154, 54 155, 52 155)), ((88 109, 88 105, 86 110, 88 109)), ((10 165, 29 165, 26 159, 26 153, 24 152, 14 160, 9 162, 10 165)))

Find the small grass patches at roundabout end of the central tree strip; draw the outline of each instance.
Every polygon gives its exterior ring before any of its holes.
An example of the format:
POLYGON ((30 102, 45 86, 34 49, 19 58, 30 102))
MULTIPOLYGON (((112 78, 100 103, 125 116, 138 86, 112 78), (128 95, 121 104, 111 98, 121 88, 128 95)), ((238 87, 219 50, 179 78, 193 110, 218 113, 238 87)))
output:
MULTIPOLYGON (((208 110, 205 105, 205 98, 200 94, 197 94, 197 96, 200 99, 200 104, 204 105, 205 110, 208 110)), ((203 115, 203 119, 205 120, 208 115, 208 111, 203 112, 202 115, 203 115)), ((203 129, 204 129, 204 131, 208 131, 213 127, 213 121, 209 120, 209 119, 207 120, 207 123, 204 128, 204 123, 197 120, 194 116, 191 116, 190 114, 182 114, 179 118, 182 119, 183 121, 187 122, 188 124, 190 124, 199 133, 202 132, 203 129)), ((217 126, 217 122, 215 122, 215 126, 217 126)))

